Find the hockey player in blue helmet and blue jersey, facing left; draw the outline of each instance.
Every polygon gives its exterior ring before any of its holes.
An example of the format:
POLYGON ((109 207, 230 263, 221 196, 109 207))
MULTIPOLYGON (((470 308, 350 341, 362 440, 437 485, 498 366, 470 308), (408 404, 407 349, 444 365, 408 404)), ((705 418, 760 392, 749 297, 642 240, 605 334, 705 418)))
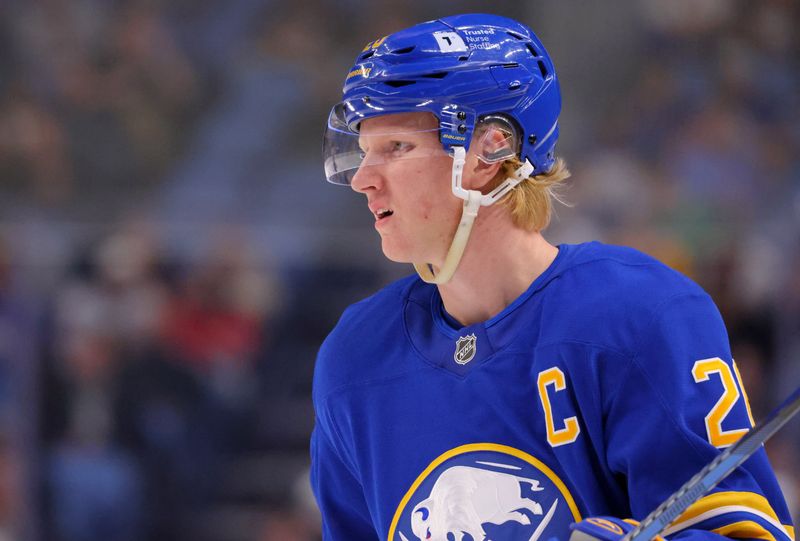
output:
MULTIPOLYGON (((700 287, 632 249, 542 236, 568 176, 553 64, 526 26, 431 21, 369 43, 325 134, 412 276, 342 315, 316 366, 330 541, 566 541, 641 519, 750 426, 700 287)), ((764 451, 666 534, 793 539, 764 451)))

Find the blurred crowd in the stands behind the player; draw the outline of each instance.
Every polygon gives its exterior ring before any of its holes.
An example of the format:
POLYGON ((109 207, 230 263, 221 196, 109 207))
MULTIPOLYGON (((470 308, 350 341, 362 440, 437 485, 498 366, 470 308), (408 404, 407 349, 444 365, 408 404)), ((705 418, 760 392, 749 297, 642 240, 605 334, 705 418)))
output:
MULTIPOLYGON (((316 350, 411 272, 321 134, 370 40, 531 25, 573 171, 548 238, 709 291, 756 417, 800 382, 793 0, 0 3, 0 540, 313 540, 316 350)), ((800 427, 768 446, 800 518, 800 427)))

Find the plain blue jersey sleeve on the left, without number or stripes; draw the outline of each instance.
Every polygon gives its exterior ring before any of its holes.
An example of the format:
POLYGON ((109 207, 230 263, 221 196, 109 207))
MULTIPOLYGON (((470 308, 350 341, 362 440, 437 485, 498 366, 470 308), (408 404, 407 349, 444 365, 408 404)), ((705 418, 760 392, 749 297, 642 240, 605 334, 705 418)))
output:
POLYGON ((324 541, 374 541, 361 484, 318 423, 311 435, 311 487, 322 515, 324 541))

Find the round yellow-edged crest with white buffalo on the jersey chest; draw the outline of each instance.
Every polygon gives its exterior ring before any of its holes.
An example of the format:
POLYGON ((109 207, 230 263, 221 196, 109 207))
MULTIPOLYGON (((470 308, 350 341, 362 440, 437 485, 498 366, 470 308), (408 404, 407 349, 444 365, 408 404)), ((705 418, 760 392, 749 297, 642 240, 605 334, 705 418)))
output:
POLYGON ((580 520, 561 480, 536 458, 472 444, 436 459, 400 503, 389 541, 544 541, 580 520))

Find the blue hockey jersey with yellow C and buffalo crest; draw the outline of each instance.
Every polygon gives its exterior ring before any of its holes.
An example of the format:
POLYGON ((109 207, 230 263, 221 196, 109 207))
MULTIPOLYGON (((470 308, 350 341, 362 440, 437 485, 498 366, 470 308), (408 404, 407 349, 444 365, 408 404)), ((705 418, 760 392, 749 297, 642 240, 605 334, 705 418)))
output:
MULTIPOLYGON (((330 541, 565 541, 582 518, 642 519, 752 424, 709 296, 600 243, 561 245, 475 325, 417 277, 351 306, 314 403, 330 541)), ((793 539, 763 449, 666 533, 793 539)))

